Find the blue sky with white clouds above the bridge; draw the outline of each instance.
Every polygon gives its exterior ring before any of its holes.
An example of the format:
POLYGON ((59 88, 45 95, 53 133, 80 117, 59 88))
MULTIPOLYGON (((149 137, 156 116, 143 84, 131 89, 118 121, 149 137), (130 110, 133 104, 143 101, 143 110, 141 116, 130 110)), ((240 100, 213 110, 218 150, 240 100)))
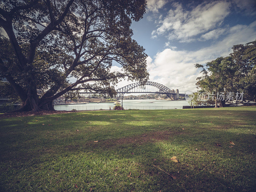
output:
POLYGON ((196 91, 195 63, 228 56, 233 45, 256 39, 256 1, 148 0, 144 18, 132 29, 148 54, 150 81, 196 91))

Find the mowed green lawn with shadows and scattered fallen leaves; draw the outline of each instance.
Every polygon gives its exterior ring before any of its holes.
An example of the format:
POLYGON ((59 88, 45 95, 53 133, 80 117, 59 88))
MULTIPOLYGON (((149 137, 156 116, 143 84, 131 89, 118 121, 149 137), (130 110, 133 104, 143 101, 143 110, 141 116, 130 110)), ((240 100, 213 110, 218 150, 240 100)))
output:
POLYGON ((87 111, 0 127, 0 191, 256 191, 256 107, 87 111))

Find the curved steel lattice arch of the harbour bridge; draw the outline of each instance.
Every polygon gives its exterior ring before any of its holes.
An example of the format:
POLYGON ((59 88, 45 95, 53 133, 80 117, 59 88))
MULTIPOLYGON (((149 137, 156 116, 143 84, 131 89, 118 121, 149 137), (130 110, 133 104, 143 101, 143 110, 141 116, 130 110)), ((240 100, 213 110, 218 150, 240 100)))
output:
MULTIPOLYGON (((174 91, 172 91, 168 87, 164 86, 163 84, 152 82, 152 81, 147 81, 147 82, 132 83, 132 84, 129 84, 129 85, 126 85, 124 87, 121 87, 121 88, 117 89, 116 90, 116 98, 119 99, 125 93, 129 92, 131 89, 133 89, 135 87, 141 87, 141 86, 144 86, 144 85, 151 85, 153 87, 156 87, 156 88, 163 91, 163 92, 161 92, 162 94, 166 94, 167 96, 175 94, 174 91)), ((147 92, 144 92, 144 93, 147 93, 147 92)))

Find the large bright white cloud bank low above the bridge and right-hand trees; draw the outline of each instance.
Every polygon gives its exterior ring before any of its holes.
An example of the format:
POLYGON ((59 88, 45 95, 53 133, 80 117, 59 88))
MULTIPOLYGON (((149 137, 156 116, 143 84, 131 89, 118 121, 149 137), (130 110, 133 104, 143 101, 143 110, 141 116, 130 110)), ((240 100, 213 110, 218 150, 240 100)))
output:
POLYGON ((227 36, 221 41, 199 50, 186 51, 167 48, 158 52, 154 60, 148 57, 149 80, 164 84, 171 89, 178 88, 180 92, 196 91, 195 84, 199 70, 195 68, 194 64, 205 64, 217 57, 228 56, 232 52, 233 45, 255 40, 256 21, 248 26, 236 25, 226 33, 227 36))

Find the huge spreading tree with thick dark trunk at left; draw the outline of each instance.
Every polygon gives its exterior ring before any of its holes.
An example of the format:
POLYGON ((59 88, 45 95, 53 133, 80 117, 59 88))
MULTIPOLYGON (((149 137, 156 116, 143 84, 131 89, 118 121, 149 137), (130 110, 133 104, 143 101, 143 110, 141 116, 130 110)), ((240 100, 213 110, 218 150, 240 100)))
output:
POLYGON ((145 7, 145 0, 3 0, 0 71, 20 110, 52 110, 52 100, 81 89, 113 94, 110 84, 125 77, 147 81, 147 54, 130 28, 145 7), (113 62, 122 71, 113 72, 113 62), (36 89, 45 90, 41 98, 36 89))

